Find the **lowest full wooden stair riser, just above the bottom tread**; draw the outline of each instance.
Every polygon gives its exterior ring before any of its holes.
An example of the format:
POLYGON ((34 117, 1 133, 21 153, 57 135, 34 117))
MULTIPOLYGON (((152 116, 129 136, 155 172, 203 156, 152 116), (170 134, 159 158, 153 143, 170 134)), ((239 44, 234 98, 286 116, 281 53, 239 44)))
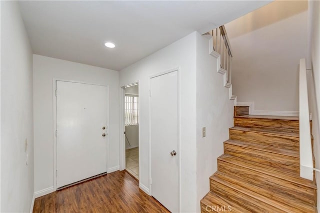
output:
MULTIPOLYGON (((217 181, 210 180, 210 190, 215 194, 227 198, 228 200, 233 201, 234 203, 241 205, 248 209, 252 213, 259 212, 272 212, 272 213, 284 213, 270 205, 264 204, 250 196, 247 196, 237 190, 233 190, 217 181)), ((231 207, 232 210, 232 207, 231 207)))

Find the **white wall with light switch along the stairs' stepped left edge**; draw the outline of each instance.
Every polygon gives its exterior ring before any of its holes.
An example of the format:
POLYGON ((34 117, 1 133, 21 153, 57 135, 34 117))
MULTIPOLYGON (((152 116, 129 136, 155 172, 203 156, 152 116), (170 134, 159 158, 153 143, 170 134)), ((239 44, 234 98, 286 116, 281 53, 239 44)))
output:
POLYGON ((216 159, 223 154, 223 142, 233 126, 234 101, 216 70, 217 59, 208 54, 208 39, 200 34, 196 38, 196 210, 200 212, 200 200, 209 192, 209 177, 217 170, 216 159))

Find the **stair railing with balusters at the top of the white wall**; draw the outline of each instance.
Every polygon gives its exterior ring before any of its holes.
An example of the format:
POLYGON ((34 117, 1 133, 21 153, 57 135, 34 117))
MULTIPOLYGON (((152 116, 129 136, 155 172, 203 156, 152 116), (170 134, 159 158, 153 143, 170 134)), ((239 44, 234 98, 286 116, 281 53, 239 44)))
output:
POLYGON ((213 50, 220 54, 220 66, 226 71, 226 82, 231 84, 232 51, 224 25, 212 29, 213 50))

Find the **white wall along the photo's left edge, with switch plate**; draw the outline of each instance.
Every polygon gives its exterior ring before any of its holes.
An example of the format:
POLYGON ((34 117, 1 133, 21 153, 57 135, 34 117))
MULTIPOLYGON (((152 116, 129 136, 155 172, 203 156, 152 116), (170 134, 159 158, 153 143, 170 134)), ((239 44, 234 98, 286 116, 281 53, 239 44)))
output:
POLYGON ((0 212, 30 211, 34 189, 32 101, 32 50, 19 6, 17 1, 1 1, 0 212))

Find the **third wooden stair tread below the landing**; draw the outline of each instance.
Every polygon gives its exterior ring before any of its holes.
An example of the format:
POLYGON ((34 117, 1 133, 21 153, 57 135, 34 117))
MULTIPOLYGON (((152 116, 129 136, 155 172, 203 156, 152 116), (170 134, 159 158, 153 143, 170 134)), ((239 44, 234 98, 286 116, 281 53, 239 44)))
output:
POLYGON ((291 173, 280 173, 278 170, 275 170, 274 168, 264 165, 264 164, 259 164, 259 163, 255 163, 255 162, 249 162, 249 161, 243 161, 241 158, 235 157, 235 156, 231 156, 231 155, 227 155, 227 154, 223 154, 222 156, 218 157, 219 160, 221 161, 225 161, 227 163, 230 164, 235 164, 237 166, 243 167, 243 168, 247 168, 256 172, 260 172, 266 175, 270 175, 276 178, 280 178, 295 184, 299 184, 305 187, 309 187, 312 189, 317 189, 316 188, 316 184, 313 181, 307 180, 307 179, 303 179, 300 178, 299 176, 294 176, 291 173))

